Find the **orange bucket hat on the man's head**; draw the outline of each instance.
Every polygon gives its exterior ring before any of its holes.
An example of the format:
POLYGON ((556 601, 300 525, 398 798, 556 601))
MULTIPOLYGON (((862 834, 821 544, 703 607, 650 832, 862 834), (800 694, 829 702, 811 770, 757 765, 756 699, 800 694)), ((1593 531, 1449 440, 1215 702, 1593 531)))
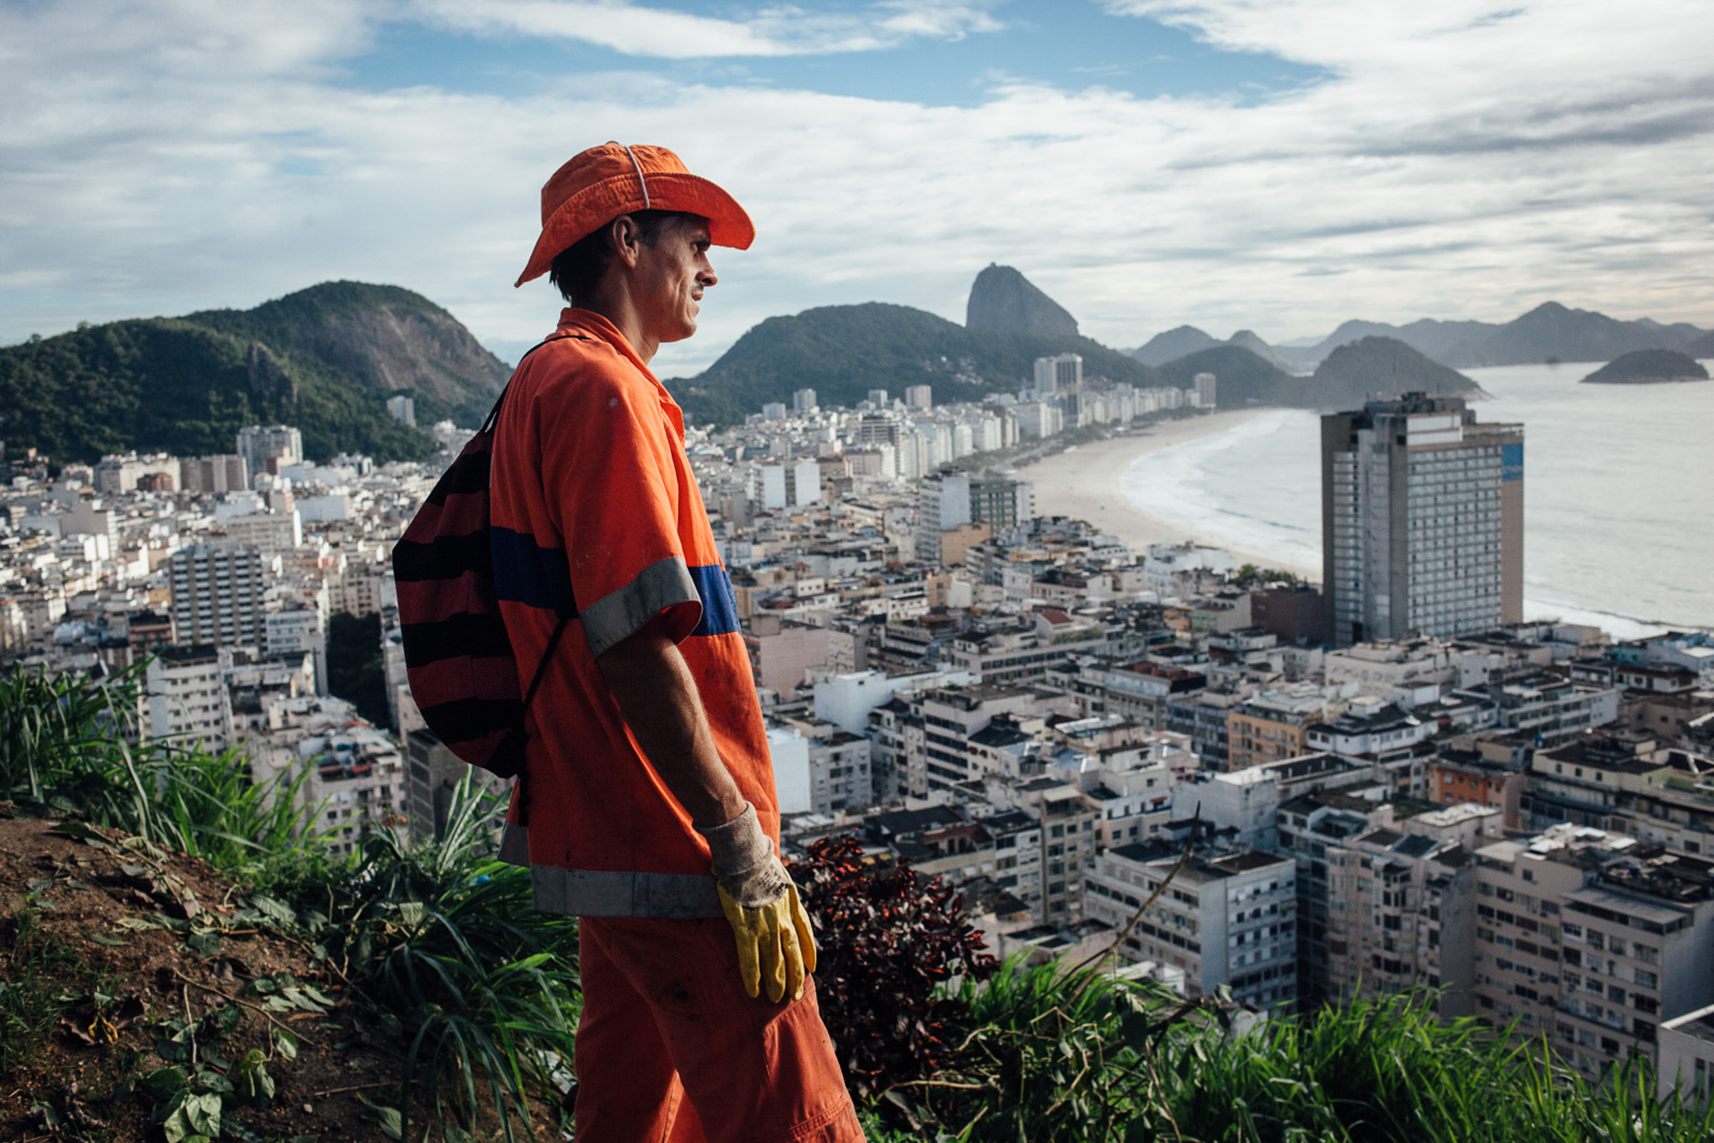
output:
POLYGON ((574 156, 542 187, 542 236, 512 284, 540 278, 574 242, 632 211, 701 214, 716 247, 747 250, 756 240, 756 224, 737 199, 692 175, 667 147, 603 142, 574 156))

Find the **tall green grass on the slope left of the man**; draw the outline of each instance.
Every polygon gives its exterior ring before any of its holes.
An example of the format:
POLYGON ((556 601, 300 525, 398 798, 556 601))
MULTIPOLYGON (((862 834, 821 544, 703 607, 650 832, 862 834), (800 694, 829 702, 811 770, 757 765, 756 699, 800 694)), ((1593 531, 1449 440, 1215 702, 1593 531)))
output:
MULTIPOLYGON (((442 840, 413 848, 379 831, 334 857, 309 829, 317 807, 298 805, 307 771, 255 787, 238 751, 135 737, 142 670, 0 675, 0 790, 24 812, 202 857, 267 898, 257 924, 322 949, 327 968, 398 1028, 410 1059, 401 1080, 437 1121, 468 1129, 492 1116, 511 1140, 531 1095, 557 1104, 579 1013, 578 927, 538 913, 528 871, 494 860, 497 799, 466 775, 442 840)), ((36 1028, 26 999, 39 997, 0 985, 0 1021, 19 1042, 36 1028)))

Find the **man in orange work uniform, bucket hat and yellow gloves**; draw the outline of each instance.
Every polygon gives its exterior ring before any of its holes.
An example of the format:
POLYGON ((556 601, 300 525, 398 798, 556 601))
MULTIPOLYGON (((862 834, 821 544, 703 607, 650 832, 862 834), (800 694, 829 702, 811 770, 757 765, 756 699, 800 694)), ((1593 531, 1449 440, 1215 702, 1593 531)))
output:
POLYGON ((696 332, 710 245, 749 247, 727 192, 665 147, 610 142, 542 189, 518 284, 571 308, 519 363, 490 478, 494 577, 530 708, 502 855, 581 920, 578 1143, 862 1140, 816 1008, 809 917, 778 857, 761 706, 684 452, 648 362, 696 332))

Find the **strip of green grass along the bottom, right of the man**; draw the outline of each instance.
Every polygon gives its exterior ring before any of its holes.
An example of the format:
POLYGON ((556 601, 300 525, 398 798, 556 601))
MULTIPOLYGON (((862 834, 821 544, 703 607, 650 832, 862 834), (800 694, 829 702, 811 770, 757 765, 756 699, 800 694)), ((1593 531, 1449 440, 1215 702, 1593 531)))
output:
MULTIPOLYGON (((878 1126, 919 1138, 1222 1143, 1707 1143, 1714 1107, 1654 1097, 1633 1059, 1592 1086, 1539 1044, 1428 994, 1250 1023, 1219 997, 1051 968, 967 989, 960 1066, 895 1090, 878 1126)), ((890 1138, 886 1133, 878 1138, 890 1138)), ((898 1136, 907 1138, 907 1136, 898 1136)))

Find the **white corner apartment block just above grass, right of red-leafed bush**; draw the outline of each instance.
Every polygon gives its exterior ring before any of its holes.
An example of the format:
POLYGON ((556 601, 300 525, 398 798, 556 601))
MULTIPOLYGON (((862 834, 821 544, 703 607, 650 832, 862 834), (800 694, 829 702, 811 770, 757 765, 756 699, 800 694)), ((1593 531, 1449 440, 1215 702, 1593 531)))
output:
MULTIPOLYGON (((1083 917, 1123 931, 1181 857, 1178 845, 1160 841, 1107 850, 1083 877, 1083 917)), ((1258 1008, 1294 1002, 1296 886, 1289 857, 1260 850, 1193 857, 1119 953, 1183 968, 1190 997, 1226 984, 1236 999, 1258 1008)))

